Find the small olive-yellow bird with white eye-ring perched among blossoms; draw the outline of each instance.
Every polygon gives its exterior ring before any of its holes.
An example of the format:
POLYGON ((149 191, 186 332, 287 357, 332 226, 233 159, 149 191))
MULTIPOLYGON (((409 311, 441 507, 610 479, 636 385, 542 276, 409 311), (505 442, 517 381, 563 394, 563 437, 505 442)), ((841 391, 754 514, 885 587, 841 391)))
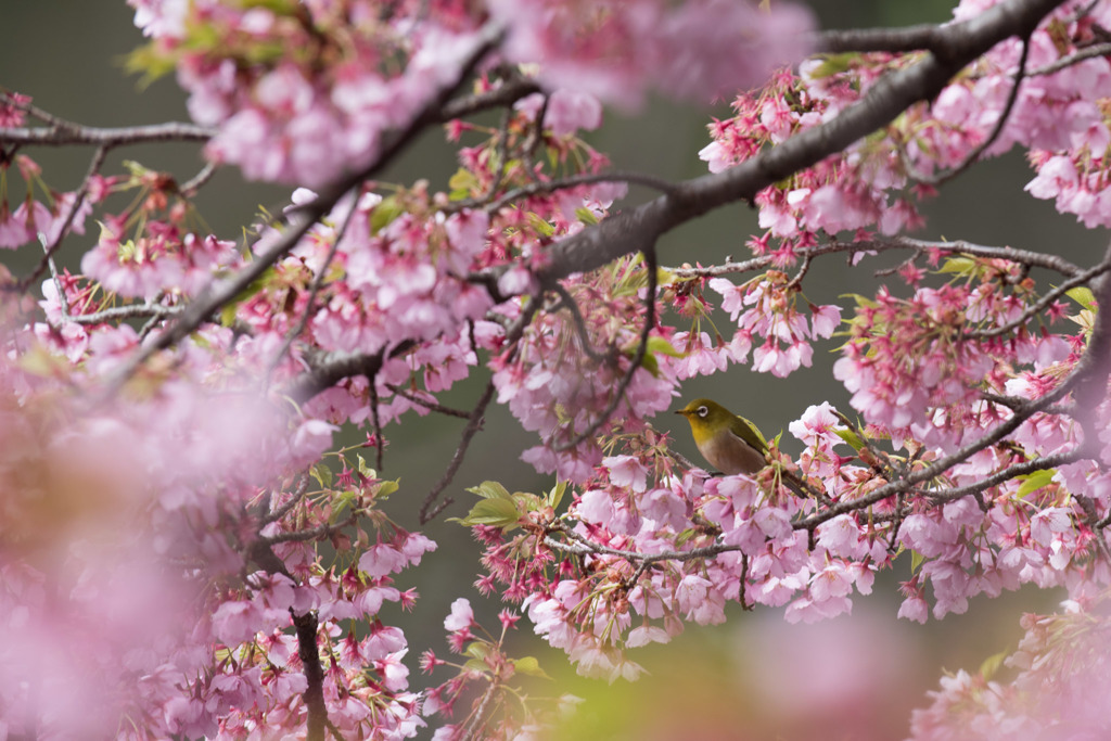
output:
MULTIPOLYGON (((695 399, 675 411, 690 422, 702 458, 722 473, 752 474, 768 465, 768 441, 757 425, 711 399, 695 399)), ((805 497, 802 484, 782 471, 783 484, 805 497)))

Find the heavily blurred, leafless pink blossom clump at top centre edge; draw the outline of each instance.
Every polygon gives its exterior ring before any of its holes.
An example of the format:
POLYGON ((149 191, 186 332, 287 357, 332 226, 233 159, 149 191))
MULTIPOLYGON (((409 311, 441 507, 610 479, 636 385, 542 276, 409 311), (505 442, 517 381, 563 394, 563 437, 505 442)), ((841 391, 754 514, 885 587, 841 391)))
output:
POLYGON ((648 89, 707 102, 763 82, 803 57, 810 13, 792 3, 694 0, 560 2, 494 0, 509 29, 506 54, 540 64, 552 87, 581 90, 625 108, 648 89))

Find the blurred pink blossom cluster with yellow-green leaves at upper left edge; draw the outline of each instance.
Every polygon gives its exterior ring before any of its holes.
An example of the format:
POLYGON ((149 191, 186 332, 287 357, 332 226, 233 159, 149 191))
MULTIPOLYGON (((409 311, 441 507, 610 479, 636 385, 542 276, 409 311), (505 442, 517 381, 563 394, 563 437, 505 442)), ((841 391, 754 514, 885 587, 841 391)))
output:
POLYGON ((429 16, 369 0, 131 4, 148 53, 177 67, 193 120, 218 127, 209 157, 308 187, 372 161, 383 133, 454 84, 481 43, 477 14, 450 2, 429 16))

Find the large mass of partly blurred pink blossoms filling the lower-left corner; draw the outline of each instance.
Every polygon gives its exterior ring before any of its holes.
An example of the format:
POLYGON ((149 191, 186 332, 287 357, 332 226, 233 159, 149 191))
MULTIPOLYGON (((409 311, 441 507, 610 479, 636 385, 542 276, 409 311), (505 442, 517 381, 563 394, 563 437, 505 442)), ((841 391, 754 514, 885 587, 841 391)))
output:
MULTIPOLYGON (((93 300, 76 280, 63 288, 71 310, 93 300)), ((48 314, 58 317, 54 299, 48 314)), ((330 721, 352 735, 411 737, 423 721, 406 640, 378 614, 386 601, 412 603, 392 578, 436 544, 380 524, 377 535, 360 531, 376 544, 356 562, 326 565, 317 552, 320 542, 350 548, 336 522, 367 514, 393 484, 346 459, 326 484, 334 428, 257 397, 258 367, 250 352, 231 354, 240 348, 229 330, 207 328, 166 358, 173 375, 149 370, 127 400, 89 410, 61 389, 99 388, 139 340, 126 324, 82 331, 80 364, 53 366, 54 378, 0 366, 4 398, 21 400, 0 411, 0 471, 20 482, 0 491, 0 508, 42 539, 0 538, 11 639, 0 649, 0 704, 34 709, 6 710, 8 728, 109 735, 122 724, 134 738, 303 729, 306 674, 290 631, 312 614, 330 721), (269 570, 268 552, 284 573, 269 570), (352 620, 369 633, 357 637, 352 620)), ((29 329, 9 334, 36 341, 29 329)))

